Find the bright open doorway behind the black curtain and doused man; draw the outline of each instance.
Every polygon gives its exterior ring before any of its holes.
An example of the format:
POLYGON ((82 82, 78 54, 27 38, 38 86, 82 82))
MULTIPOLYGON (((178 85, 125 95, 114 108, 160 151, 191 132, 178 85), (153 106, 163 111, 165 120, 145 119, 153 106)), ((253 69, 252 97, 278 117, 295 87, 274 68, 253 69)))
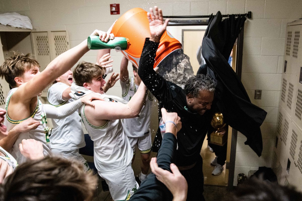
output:
MULTIPOLYGON (((174 36, 178 41, 182 42, 182 48, 184 53, 188 55, 190 58, 190 62, 194 71, 194 74, 197 73, 199 68, 199 62, 197 60, 197 50, 199 46, 202 44, 202 39, 205 33, 207 26, 168 26, 167 30, 174 36)), ((233 70, 236 72, 236 49, 237 43, 233 48, 233 60, 231 62, 231 66, 233 70)), ((242 57, 242 55, 241 55, 242 57)), ((239 75, 240 77, 240 75, 239 75)), ((236 153, 236 130, 232 130, 231 127, 228 129, 228 140, 227 140, 227 151, 226 151, 226 164, 223 165, 223 171, 220 175, 214 176, 212 175, 212 171, 214 170, 215 166, 210 165, 210 163, 215 158, 215 153, 211 152, 210 149, 207 147, 207 137, 204 140, 202 149, 201 149, 201 156, 203 158, 203 173, 204 173, 204 184, 208 185, 216 185, 216 186, 233 186, 233 173, 230 172, 229 168, 232 169, 235 162, 235 155, 232 156, 231 153, 236 153), (231 149, 231 141, 233 138, 233 150, 231 149), (235 151, 234 151, 235 150, 235 151), (227 168, 227 169, 226 169, 227 168), (231 173, 229 175, 229 172, 231 173), (230 181, 230 182, 229 182, 230 181)))

